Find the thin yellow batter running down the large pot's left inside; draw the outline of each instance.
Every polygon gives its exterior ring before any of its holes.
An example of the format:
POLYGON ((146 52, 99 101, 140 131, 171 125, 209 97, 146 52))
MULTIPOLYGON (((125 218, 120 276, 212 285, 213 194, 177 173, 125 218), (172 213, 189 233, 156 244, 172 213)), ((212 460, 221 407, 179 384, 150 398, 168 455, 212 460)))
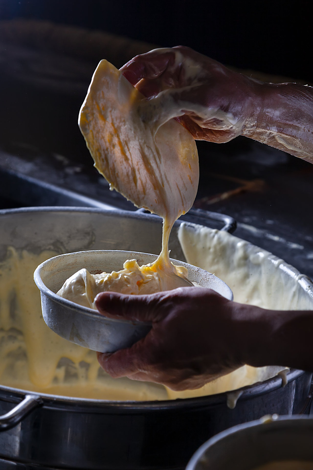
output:
POLYGON ((94 351, 46 326, 33 272, 57 254, 18 253, 10 247, 0 263, 0 384, 82 398, 168 399, 166 389, 156 384, 112 379, 99 367, 94 351))

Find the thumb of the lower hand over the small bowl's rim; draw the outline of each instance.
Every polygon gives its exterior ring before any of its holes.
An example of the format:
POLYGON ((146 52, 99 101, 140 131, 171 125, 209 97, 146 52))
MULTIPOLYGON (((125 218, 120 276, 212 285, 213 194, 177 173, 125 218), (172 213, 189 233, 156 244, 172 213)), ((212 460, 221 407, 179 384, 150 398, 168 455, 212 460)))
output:
POLYGON ((150 295, 124 295, 118 292, 100 292, 95 298, 99 313, 109 318, 125 320, 161 321, 168 314, 164 292, 150 295))

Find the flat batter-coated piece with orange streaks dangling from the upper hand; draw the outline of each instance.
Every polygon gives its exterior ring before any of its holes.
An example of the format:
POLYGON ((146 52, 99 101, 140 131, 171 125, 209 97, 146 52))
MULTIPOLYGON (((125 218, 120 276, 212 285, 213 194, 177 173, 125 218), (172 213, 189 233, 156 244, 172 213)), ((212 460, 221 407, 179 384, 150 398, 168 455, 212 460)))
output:
POLYGON ((197 147, 191 133, 174 119, 159 129, 144 123, 138 111, 143 100, 122 72, 101 60, 78 124, 95 167, 111 188, 170 224, 195 200, 197 147))

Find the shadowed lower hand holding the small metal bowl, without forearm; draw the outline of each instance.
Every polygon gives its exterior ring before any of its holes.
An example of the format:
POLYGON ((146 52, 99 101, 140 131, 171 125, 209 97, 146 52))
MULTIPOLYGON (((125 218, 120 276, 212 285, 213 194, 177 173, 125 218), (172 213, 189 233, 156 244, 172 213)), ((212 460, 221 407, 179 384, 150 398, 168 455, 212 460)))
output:
POLYGON ((156 382, 176 391, 200 388, 242 366, 250 339, 253 343, 249 328, 262 310, 198 287, 142 296, 102 292, 96 306, 107 317, 153 325, 130 348, 98 352, 100 366, 114 378, 156 382))

